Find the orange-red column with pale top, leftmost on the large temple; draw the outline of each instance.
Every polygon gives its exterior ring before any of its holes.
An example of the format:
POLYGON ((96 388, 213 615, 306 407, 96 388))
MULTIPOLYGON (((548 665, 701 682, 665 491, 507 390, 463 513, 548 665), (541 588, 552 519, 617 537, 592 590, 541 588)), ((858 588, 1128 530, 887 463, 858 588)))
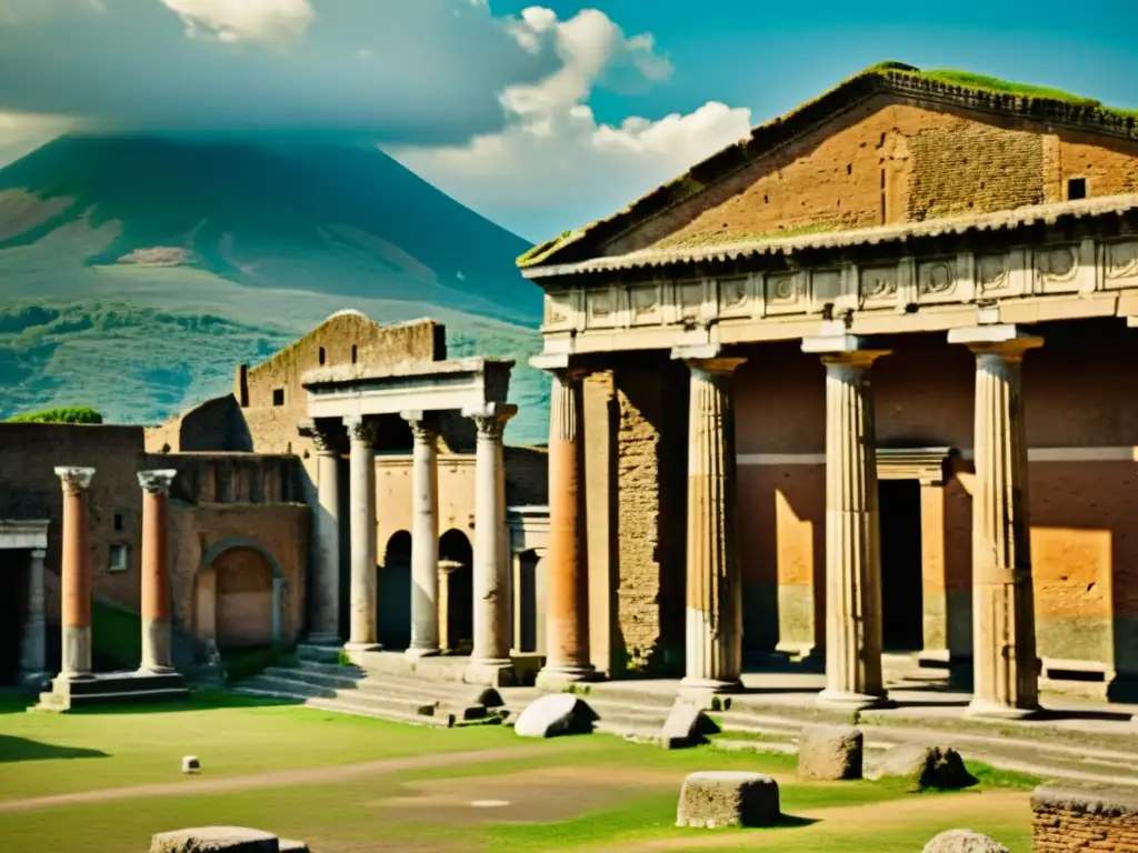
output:
POLYGON ((550 538, 545 666, 541 687, 595 677, 588 649, 588 549, 585 544, 584 373, 555 370, 550 398, 550 538))

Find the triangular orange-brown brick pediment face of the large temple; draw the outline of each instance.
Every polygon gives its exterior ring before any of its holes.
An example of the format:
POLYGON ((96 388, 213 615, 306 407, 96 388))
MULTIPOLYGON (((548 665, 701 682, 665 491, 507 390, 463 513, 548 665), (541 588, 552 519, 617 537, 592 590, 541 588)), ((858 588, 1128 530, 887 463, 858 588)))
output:
POLYGON ((880 94, 603 249, 869 227, 1138 192, 1138 143, 880 94))

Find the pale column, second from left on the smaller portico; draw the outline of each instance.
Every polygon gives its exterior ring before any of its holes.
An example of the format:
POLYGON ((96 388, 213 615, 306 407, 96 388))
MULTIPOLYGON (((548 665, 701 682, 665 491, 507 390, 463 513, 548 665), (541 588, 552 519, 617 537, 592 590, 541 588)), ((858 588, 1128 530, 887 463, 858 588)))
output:
POLYGON ((376 632, 376 429, 363 417, 345 417, 351 445, 352 613, 347 646, 380 648, 376 632))

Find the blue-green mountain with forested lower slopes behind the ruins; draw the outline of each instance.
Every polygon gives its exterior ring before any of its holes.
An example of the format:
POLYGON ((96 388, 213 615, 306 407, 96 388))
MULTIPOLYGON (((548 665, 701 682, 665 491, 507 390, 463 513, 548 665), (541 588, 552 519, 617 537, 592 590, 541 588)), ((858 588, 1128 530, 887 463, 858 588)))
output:
POLYGON ((63 136, 0 169, 0 417, 82 403, 156 422, 356 308, 518 359, 508 440, 541 441, 527 248, 373 147, 63 136))

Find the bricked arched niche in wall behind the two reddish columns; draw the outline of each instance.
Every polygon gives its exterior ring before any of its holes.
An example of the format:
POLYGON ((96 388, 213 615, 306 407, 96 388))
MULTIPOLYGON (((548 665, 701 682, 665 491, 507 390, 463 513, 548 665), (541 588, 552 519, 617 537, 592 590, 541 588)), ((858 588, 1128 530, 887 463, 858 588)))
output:
POLYGON ((195 583, 193 629, 218 648, 278 645, 284 573, 255 539, 225 539, 201 555, 195 583))

